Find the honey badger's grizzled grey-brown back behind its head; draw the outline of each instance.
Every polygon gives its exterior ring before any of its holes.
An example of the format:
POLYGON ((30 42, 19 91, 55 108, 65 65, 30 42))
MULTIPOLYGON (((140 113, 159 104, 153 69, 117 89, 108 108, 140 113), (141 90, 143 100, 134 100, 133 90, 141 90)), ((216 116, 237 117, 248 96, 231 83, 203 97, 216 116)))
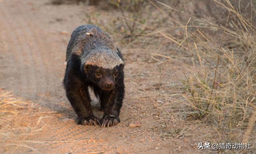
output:
POLYGON ((91 24, 79 26, 72 33, 68 43, 66 61, 68 62, 71 54, 86 56, 97 48, 118 52, 110 36, 98 26, 91 24))

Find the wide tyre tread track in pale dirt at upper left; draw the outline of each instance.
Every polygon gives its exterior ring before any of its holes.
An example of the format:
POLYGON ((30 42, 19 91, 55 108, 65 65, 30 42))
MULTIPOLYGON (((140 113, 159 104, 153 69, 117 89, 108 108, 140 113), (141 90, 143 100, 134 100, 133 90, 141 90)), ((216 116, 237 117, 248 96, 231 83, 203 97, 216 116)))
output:
POLYGON ((35 100, 37 94, 44 97, 46 90, 52 91, 52 87, 56 85, 52 74, 48 74, 47 81, 45 75, 45 66, 47 67, 46 64, 49 63, 49 59, 52 59, 47 52, 48 46, 51 44, 45 43, 47 37, 44 34, 41 35, 45 30, 40 30, 38 26, 33 24, 35 17, 33 14, 28 14, 28 10, 24 9, 26 4, 20 1, 17 5, 8 7, 2 4, 1 10, 5 17, 3 21, 8 21, 6 27, 12 34, 11 40, 15 41, 12 42, 10 52, 14 53, 15 66, 19 67, 16 72, 19 74, 16 83, 20 85, 18 88, 22 90, 17 91, 21 93, 20 96, 35 100))

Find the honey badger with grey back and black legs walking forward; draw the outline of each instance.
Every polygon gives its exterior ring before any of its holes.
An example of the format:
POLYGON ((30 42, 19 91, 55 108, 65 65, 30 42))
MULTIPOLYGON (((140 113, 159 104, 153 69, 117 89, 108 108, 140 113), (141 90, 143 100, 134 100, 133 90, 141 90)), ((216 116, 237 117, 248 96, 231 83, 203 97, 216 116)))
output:
POLYGON ((63 84, 78 116, 77 124, 118 124, 124 99, 124 61, 110 36, 95 25, 79 26, 68 43, 66 62, 63 84), (92 113, 88 88, 100 99, 101 120, 92 113))

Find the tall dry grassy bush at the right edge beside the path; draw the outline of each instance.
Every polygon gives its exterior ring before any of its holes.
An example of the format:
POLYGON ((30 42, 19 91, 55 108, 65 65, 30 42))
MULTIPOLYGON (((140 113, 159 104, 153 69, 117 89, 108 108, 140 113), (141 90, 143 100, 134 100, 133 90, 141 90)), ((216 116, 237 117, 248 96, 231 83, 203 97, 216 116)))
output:
MULTIPOLYGON (((214 0, 214 3, 228 12, 226 16, 221 12, 225 24, 193 14, 184 24, 170 16, 170 20, 180 26, 183 37, 174 36, 168 27, 159 33, 180 47, 183 55, 191 57, 185 62, 190 73, 186 72, 183 80, 186 104, 194 111, 191 116, 216 126, 228 141, 254 141, 256 27, 252 17, 243 16, 229 0, 214 0)), ((248 2, 248 6, 252 8, 252 2, 248 2)), ((187 12, 179 13, 186 17, 187 12)))

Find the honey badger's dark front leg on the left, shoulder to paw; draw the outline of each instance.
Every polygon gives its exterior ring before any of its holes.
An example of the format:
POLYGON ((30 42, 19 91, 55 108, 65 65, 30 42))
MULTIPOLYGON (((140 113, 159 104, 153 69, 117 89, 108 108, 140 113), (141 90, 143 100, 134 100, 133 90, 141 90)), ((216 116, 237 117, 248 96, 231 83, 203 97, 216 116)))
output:
POLYGON ((88 85, 82 80, 83 76, 79 72, 79 66, 80 63, 76 56, 71 56, 63 80, 66 96, 78 116, 77 124, 100 124, 99 119, 92 113, 88 85))

